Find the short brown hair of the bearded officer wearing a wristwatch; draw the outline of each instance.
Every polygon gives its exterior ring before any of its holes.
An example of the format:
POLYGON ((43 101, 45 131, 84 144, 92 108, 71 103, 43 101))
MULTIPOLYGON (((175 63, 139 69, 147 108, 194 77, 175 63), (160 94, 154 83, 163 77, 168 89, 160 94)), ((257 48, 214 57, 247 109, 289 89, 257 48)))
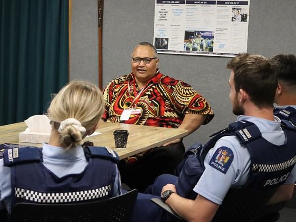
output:
POLYGON ((264 56, 238 54, 227 68, 234 72, 235 91, 243 89, 259 108, 272 107, 277 88, 277 68, 264 56))

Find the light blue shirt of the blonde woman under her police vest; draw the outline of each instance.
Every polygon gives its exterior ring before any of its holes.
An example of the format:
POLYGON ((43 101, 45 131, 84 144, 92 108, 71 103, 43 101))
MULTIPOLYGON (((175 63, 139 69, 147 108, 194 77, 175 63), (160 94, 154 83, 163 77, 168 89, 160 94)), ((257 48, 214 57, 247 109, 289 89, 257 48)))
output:
MULTIPOLYGON (((43 165, 58 177, 63 177, 68 174, 79 174, 88 164, 81 146, 65 151, 64 148, 44 143, 42 153, 43 165)), ((120 175, 118 168, 116 168, 116 170, 117 175, 114 182, 114 196, 121 195, 120 175)), ((4 167, 3 159, 0 159, 0 210, 6 207, 8 213, 11 212, 10 197, 10 167, 4 167)))

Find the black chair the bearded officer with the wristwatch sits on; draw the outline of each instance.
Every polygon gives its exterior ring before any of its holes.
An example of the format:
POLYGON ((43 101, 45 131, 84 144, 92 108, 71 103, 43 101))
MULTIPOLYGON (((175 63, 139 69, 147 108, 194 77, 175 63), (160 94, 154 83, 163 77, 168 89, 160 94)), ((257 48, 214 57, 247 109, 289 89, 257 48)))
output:
MULTIPOLYGON (((264 206, 274 192, 274 190, 258 191, 245 187, 229 190, 212 222, 275 222, 278 220, 277 215, 274 215, 274 217, 270 215, 271 218, 268 218, 268 221, 267 218, 264 221, 264 218, 261 217, 264 206)), ((155 199, 158 198, 152 198, 151 201, 176 216, 176 220, 185 221, 167 204, 155 199)))

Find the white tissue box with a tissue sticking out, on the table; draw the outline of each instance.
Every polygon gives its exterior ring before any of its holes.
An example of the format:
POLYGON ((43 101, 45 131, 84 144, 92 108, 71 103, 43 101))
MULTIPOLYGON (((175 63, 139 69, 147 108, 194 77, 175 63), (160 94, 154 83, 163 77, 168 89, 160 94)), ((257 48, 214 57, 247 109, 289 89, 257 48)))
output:
POLYGON ((51 125, 46 115, 34 115, 24 121, 27 129, 19 133, 19 142, 44 143, 48 142, 51 125))

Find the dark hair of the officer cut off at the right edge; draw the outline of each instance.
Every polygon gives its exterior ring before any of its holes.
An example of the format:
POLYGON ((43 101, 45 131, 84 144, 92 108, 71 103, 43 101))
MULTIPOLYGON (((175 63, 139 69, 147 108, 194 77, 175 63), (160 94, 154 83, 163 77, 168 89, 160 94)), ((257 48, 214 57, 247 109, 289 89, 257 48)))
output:
POLYGON ((287 86, 296 87, 296 56, 279 54, 270 61, 278 68, 278 80, 287 86))

